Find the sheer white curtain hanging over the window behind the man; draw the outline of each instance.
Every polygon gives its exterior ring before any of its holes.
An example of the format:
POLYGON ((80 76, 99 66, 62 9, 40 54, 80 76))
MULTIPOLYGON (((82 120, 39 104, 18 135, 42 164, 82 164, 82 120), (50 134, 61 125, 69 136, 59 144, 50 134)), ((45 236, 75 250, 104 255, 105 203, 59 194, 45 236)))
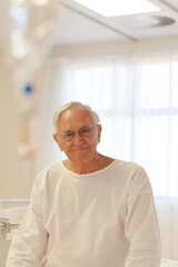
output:
POLYGON ((46 96, 40 144, 46 152, 41 158, 39 151, 39 166, 62 158, 47 141, 58 106, 75 100, 90 105, 102 125, 99 151, 148 172, 162 257, 178 259, 178 53, 51 59, 39 87, 46 96))

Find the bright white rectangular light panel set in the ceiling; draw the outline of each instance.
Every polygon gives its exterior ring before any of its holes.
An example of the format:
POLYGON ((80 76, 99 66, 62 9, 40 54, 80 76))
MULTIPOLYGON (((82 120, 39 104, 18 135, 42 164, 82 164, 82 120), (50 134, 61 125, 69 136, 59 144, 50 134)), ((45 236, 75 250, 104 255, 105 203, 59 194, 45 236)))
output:
POLYGON ((160 9, 148 0, 73 0, 105 17, 157 12, 160 9))

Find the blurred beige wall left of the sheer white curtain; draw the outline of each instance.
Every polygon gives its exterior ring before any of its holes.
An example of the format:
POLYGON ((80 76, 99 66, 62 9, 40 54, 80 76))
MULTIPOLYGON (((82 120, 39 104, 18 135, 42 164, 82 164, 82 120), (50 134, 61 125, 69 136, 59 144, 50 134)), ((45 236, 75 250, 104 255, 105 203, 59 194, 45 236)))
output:
POLYGON ((17 82, 17 68, 6 62, 2 52, 0 61, 0 199, 29 198, 36 175, 36 154, 24 155, 28 147, 23 144, 29 138, 29 125, 37 125, 37 116, 21 111, 22 106, 28 107, 29 99, 17 82))

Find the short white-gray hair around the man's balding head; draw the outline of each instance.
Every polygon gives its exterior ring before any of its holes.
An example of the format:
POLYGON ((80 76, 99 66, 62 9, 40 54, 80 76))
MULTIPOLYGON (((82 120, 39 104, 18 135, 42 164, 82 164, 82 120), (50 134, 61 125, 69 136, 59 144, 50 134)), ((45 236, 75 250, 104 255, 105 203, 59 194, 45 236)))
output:
POLYGON ((96 125, 99 123, 99 121, 100 121, 99 116, 88 105, 83 105, 83 103, 77 102, 77 101, 68 102, 68 103, 61 106, 59 109, 57 109, 57 111, 53 115, 53 121, 52 121, 53 134, 58 134, 58 119, 59 119, 59 116, 61 115, 61 112, 63 112, 70 106, 79 106, 79 107, 86 108, 90 112, 90 115, 91 115, 91 117, 93 119, 93 122, 96 125))

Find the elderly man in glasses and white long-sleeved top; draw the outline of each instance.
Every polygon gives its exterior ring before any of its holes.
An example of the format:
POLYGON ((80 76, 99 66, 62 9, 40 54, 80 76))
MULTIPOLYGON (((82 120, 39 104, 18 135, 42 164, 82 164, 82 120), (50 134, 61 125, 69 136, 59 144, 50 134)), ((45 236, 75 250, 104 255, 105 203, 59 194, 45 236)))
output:
POLYGON ((70 102, 53 116, 68 159, 36 178, 7 267, 159 267, 160 239, 145 170, 97 151, 101 125, 70 102))

